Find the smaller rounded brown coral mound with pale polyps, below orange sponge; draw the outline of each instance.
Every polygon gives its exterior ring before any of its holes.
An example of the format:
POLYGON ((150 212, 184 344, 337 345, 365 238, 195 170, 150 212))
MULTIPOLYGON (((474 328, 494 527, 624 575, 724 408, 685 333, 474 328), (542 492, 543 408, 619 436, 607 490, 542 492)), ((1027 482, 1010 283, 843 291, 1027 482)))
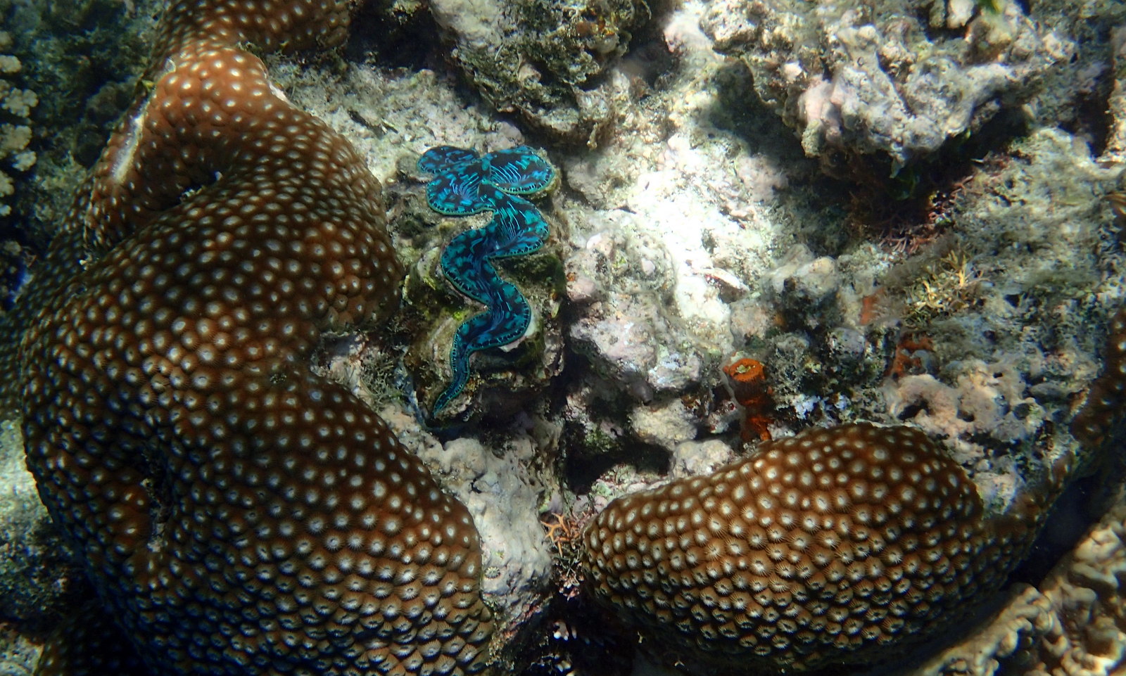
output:
POLYGON ((614 501, 584 565, 599 602, 686 663, 876 663, 1001 584, 1043 514, 1016 512, 985 517, 923 433, 849 424, 614 501))

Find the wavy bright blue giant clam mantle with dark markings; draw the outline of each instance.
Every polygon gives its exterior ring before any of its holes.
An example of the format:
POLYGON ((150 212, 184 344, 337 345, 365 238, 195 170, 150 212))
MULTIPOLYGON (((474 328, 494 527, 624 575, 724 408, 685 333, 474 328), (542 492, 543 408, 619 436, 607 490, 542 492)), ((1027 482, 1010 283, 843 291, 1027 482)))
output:
POLYGON ((437 415, 468 382, 471 354, 516 342, 531 323, 528 300, 497 274, 492 260, 524 255, 544 245, 547 222, 520 196, 546 190, 555 180, 555 169, 525 145, 484 156, 439 145, 419 157, 418 168, 437 174, 426 187, 434 210, 447 216, 493 213, 488 225, 457 235, 441 252, 446 279, 483 304, 485 312, 470 317, 454 334, 453 379, 435 400, 431 415, 437 415))

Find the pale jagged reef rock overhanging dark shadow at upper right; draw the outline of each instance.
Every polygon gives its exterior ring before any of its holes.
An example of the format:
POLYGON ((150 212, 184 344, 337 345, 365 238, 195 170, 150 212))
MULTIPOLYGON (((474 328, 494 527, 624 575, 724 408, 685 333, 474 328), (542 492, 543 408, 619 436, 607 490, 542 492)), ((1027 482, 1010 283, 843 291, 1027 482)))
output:
POLYGON ((1015 0, 724 0, 703 27, 813 157, 897 169, 1019 106, 1072 46, 1015 0))

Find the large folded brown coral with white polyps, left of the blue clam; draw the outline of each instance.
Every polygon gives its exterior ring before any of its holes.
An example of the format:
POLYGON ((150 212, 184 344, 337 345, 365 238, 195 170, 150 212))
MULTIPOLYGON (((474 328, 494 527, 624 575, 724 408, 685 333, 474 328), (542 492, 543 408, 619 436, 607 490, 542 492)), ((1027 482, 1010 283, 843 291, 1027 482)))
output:
POLYGON ((339 42, 345 8, 173 6, 28 296, 28 467, 153 674, 483 666, 472 517, 306 360, 401 268, 358 153, 241 45, 339 42))

